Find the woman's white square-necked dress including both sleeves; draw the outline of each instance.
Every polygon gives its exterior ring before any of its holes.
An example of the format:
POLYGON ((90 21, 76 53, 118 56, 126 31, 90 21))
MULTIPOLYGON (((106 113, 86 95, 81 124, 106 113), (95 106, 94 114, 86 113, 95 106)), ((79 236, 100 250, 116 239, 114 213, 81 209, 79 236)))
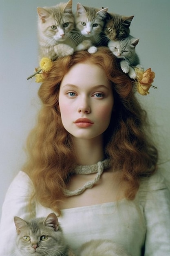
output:
MULTIPOLYGON (((2 207, 0 256, 15 255, 13 217, 29 217, 32 191, 31 180, 20 171, 2 207)), ((38 203, 32 204, 32 211, 36 217, 52 212, 38 203)), ((64 209, 59 221, 75 252, 86 241, 108 238, 132 256, 170 256, 170 192, 159 173, 141 182, 135 200, 64 209)))

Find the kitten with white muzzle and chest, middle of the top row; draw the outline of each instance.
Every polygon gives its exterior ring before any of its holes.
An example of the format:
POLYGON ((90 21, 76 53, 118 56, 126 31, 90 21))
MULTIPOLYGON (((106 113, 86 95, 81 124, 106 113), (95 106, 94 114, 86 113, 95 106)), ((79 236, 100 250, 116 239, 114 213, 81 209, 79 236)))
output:
POLYGON ((102 45, 102 32, 108 8, 97 9, 86 7, 77 3, 75 14, 75 27, 81 43, 75 51, 88 50, 89 53, 97 52, 97 47, 102 45))

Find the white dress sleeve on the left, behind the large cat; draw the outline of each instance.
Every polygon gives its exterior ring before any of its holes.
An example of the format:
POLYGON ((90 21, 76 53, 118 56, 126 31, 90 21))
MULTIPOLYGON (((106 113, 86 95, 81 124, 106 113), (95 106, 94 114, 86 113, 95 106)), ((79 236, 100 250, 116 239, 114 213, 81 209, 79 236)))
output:
MULTIPOLYGON (((33 184, 26 173, 20 171, 9 186, 2 206, 0 222, 0 255, 18 255, 15 240, 16 229, 13 217, 29 218, 29 200, 33 193, 33 184)), ((31 205, 34 216, 35 205, 31 205)))

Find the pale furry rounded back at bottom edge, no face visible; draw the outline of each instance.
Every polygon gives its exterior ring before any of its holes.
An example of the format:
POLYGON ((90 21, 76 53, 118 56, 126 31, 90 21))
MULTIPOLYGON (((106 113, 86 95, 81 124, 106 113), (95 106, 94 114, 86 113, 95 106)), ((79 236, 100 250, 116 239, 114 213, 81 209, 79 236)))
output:
POLYGON ((91 240, 80 247, 78 256, 130 256, 111 240, 91 240))

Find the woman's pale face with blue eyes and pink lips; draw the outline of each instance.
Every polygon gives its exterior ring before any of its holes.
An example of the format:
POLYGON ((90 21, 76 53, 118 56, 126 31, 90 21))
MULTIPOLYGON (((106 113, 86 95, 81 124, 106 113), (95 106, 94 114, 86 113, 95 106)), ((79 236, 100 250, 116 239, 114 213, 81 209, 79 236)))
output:
POLYGON ((102 136, 110 123, 113 103, 111 83, 95 64, 74 65, 60 85, 62 124, 76 138, 102 136))

